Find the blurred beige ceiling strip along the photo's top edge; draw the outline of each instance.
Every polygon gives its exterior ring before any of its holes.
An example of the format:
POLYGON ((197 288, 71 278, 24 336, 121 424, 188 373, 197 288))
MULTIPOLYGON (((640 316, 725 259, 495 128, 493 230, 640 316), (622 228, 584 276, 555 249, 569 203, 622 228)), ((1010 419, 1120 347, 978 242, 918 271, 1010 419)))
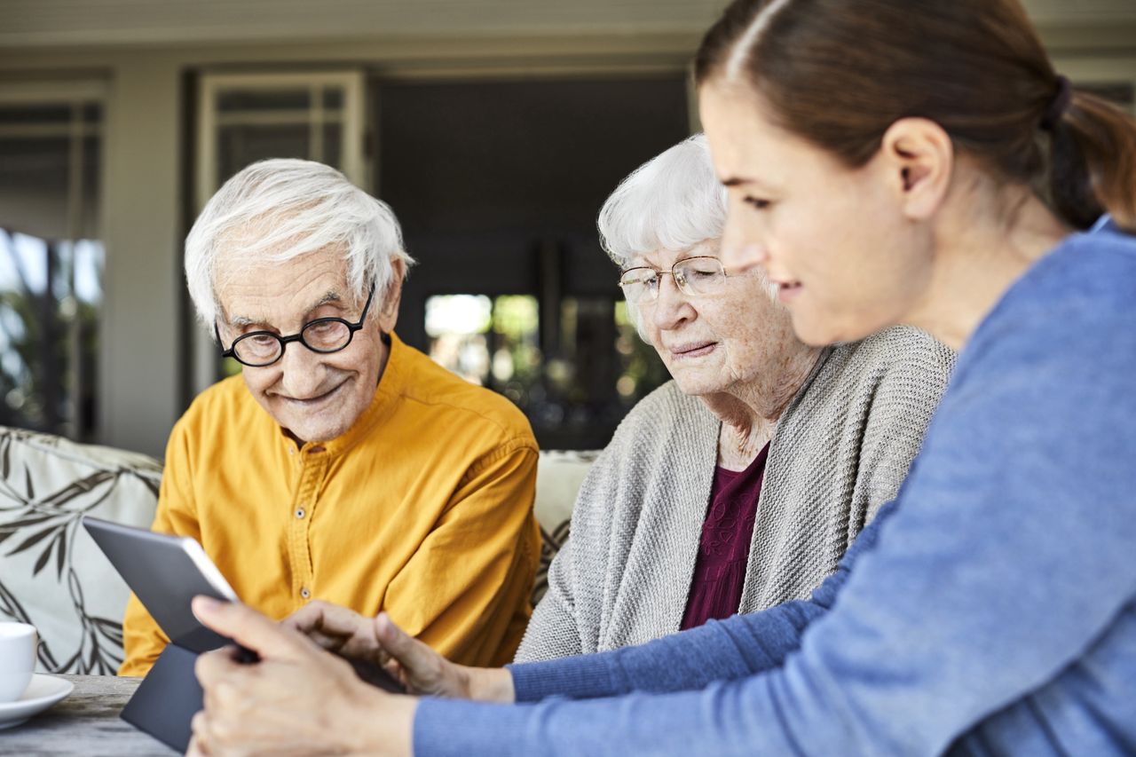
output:
MULTIPOLYGON (((943 0, 950 1, 950 0, 943 0)), ((703 31, 726 0, 0 0, 0 49, 703 31)), ((1025 0, 1038 26, 1136 28, 1136 0, 1025 0)))

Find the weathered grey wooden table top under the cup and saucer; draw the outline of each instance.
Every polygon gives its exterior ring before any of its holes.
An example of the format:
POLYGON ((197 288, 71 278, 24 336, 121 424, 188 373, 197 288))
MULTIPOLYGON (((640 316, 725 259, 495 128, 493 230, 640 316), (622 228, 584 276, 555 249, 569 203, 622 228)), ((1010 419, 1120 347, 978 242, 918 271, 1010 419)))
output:
POLYGON ((142 679, 61 675, 75 684, 66 699, 23 725, 0 731, 0 755, 123 755, 177 752, 118 717, 142 679))

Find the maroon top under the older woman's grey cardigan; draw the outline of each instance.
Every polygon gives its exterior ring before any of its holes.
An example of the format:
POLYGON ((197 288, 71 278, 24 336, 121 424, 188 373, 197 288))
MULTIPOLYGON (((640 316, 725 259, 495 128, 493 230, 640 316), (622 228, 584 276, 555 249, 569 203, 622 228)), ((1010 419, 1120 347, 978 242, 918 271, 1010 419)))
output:
POLYGON ((715 469, 710 509, 702 524, 699 557, 683 614, 684 631, 710 618, 737 613, 768 457, 769 444, 766 444, 744 471, 715 469))

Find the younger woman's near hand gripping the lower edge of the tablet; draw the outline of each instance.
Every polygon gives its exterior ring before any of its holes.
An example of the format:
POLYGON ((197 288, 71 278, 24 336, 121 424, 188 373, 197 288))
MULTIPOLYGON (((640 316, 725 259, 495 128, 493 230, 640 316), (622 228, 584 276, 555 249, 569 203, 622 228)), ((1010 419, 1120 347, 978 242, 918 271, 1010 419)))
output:
POLYGON ((232 647, 198 658, 204 709, 193 717, 190 755, 409 755, 417 700, 360 681, 344 660, 236 602, 204 597, 193 613, 260 655, 242 664, 232 647))

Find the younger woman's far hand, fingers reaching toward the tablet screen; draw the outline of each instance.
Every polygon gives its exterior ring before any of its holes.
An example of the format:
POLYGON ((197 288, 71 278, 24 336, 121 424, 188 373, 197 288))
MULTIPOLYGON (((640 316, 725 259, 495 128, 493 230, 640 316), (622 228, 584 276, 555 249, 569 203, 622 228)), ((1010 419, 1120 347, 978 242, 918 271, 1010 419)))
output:
POLYGON ((478 701, 513 700, 512 675, 508 671, 451 663, 402 631, 386 613, 368 618, 317 600, 284 618, 282 624, 324 649, 383 667, 410 693, 478 701))

